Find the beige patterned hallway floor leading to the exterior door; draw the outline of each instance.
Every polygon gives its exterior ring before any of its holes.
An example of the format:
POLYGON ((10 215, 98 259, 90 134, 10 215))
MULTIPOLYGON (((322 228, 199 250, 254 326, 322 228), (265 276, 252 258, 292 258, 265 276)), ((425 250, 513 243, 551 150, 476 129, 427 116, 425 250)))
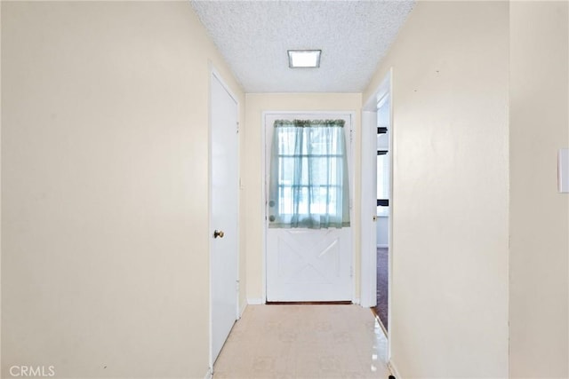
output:
POLYGON ((387 340, 359 305, 249 305, 213 378, 386 378, 387 340))

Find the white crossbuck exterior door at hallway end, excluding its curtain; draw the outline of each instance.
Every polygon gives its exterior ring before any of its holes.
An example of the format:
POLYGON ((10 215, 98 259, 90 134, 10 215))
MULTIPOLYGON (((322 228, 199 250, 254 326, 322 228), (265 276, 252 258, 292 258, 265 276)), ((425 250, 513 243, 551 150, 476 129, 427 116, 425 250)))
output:
MULTIPOLYGON (((270 149, 275 120, 343 119, 349 157, 350 198, 353 193, 350 114, 266 114, 265 183, 268 188, 270 149)), ((265 198, 268 199, 266 191, 265 198)), ((265 201, 268 215, 268 201, 265 201)), ((351 204, 351 200, 350 200, 351 204)), ((350 206, 351 208, 351 206, 350 206)), ((350 214, 352 214, 350 209, 350 214)), ((353 220, 352 217, 350 217, 353 220)), ((341 229, 269 228, 267 235, 267 301, 351 301, 353 249, 351 227, 341 229)))

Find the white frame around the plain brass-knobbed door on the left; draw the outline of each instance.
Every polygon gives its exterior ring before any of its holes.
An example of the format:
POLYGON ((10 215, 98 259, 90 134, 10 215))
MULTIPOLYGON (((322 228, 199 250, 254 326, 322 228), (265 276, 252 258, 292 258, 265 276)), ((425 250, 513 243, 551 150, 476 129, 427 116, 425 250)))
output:
MULTIPOLYGON (((213 226, 212 225, 212 174, 211 174, 211 168, 212 168, 212 82, 213 80, 216 79, 221 86, 225 89, 225 91, 228 92, 229 96, 231 97, 231 99, 235 100, 236 102, 236 107, 237 107, 237 122, 239 121, 239 98, 236 97, 235 93, 233 91, 231 91, 231 89, 229 88, 229 86, 227 85, 227 83, 223 80, 223 77, 220 75, 219 71, 212 66, 212 64, 210 63, 210 80, 209 80, 209 88, 208 88, 208 93, 210 95, 210 99, 208 101, 208 231, 212 231, 213 230, 213 226)), ((237 178, 241 178, 241 171, 240 171, 240 164, 239 162, 241 162, 241 149, 240 149, 240 144, 239 144, 239 136, 237 136, 237 178)), ((239 186, 237 184, 235 191, 237 193, 237 199, 240 198, 240 193, 239 193, 239 186)), ((239 214, 240 214, 240 201, 237 201, 237 220, 239 220, 239 214)), ((239 222, 237 222, 237 229, 236 229, 236 245, 237 245, 237 257, 236 257, 236 280, 239 281, 239 257, 240 257, 240 251, 239 251, 239 222)), ((209 283, 209 372, 208 375, 212 375, 213 374, 213 320, 212 320, 212 239, 208 239, 208 249, 209 249, 209 254, 210 254, 210 283, 209 283)), ((240 305, 239 305, 239 292, 236 291, 236 320, 239 320, 241 314, 240 314, 240 305)))

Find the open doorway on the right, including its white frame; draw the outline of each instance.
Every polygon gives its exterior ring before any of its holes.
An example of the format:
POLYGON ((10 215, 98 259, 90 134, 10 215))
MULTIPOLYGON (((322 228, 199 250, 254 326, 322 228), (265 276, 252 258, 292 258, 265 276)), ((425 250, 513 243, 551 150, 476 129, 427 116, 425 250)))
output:
MULTIPOLYGON (((392 70, 362 108, 361 305, 371 308, 391 343, 393 302, 392 70), (379 317, 381 315, 381 317, 379 317)), ((378 327, 379 328, 379 327, 378 327)))

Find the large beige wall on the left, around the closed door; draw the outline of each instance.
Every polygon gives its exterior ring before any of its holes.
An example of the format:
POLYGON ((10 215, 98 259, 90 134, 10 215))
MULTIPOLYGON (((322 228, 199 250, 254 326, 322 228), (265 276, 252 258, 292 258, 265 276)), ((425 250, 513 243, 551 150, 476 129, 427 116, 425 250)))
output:
POLYGON ((210 60, 243 116, 188 2, 2 2, 3 377, 204 377, 210 60))

